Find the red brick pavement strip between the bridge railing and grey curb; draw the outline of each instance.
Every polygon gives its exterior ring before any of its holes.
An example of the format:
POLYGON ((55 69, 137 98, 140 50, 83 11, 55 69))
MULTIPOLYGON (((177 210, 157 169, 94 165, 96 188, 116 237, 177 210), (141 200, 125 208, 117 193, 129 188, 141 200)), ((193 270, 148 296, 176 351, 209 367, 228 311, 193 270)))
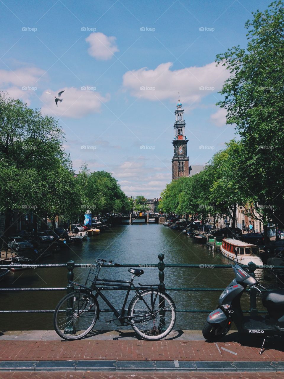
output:
POLYGON ((0 360, 185 360, 185 361, 284 361, 283 345, 268 342, 259 355, 254 345, 239 342, 208 343, 194 340, 1 340, 0 360))

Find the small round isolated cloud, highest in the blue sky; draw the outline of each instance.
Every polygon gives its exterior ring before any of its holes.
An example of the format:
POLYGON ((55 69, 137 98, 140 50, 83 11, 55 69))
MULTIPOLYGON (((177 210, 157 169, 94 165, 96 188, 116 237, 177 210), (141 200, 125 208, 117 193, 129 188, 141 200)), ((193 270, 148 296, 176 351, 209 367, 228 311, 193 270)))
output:
POLYGON ((91 33, 85 41, 90 44, 88 53, 98 60, 106 61, 111 59, 114 53, 119 51, 115 44, 116 37, 108 37, 100 32, 91 33))

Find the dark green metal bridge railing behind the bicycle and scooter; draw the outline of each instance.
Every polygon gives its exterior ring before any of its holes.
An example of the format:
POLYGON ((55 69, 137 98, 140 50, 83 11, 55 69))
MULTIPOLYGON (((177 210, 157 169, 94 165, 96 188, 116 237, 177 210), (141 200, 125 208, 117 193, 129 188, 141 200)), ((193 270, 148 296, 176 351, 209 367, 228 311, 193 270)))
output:
MULTIPOLYGON (((164 263, 164 254, 159 254, 159 263, 153 263, 153 264, 140 264, 140 263, 132 263, 132 264, 125 264, 121 263, 121 267, 138 267, 138 268, 145 268, 145 267, 158 267, 159 269, 159 281, 160 283, 164 283, 165 273, 164 269, 167 268, 210 268, 210 269, 231 269, 231 265, 198 265, 198 264, 165 264, 164 263), (207 267, 208 266, 208 267, 207 267)), ((255 266, 255 265, 254 265, 255 266)), ((73 281, 74 279, 74 268, 86 268, 91 267, 90 263, 87 264, 81 264, 81 263, 75 263, 74 261, 70 260, 67 263, 57 263, 57 264, 39 264, 39 265, 20 265, 20 264, 12 264, 12 265, 0 265, 0 268, 67 268, 67 281, 68 285, 66 287, 39 287, 39 288, 0 288, 1 292, 25 292, 25 291, 67 291, 67 293, 70 293, 74 290, 73 284, 70 283, 70 281, 73 281)), ((102 266, 104 268, 111 268, 115 267, 114 264, 102 266)), ((255 268, 263 269, 265 267, 259 267, 255 266, 255 268)), ((284 269, 283 266, 273 266, 273 269, 284 269)), ((123 291, 123 289, 120 288, 105 288, 104 291, 123 291)), ((134 289, 132 289, 134 290, 134 289)), ((224 288, 200 288, 200 287, 165 287, 166 291, 200 291, 200 292, 222 292, 224 288)), ((248 290, 247 290, 248 291, 248 290)), ((264 290, 265 291, 265 290, 264 290)), ((54 310, 0 310, 0 313, 53 313, 54 310)), ((100 312, 112 312, 111 309, 101 309, 100 312)), ((203 310, 203 309, 176 309, 176 312, 178 313, 210 313, 212 310, 203 310)), ((250 313, 249 310, 243 311, 243 313, 250 313)), ((267 313, 264 311, 259 311, 259 313, 267 313)))

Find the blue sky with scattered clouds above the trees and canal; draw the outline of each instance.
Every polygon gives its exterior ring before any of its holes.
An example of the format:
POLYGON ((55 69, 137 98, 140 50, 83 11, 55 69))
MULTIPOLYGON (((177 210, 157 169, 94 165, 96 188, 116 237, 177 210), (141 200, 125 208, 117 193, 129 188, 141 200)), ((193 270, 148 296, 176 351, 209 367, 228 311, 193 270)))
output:
POLYGON ((237 138, 215 105, 228 71, 214 61, 246 47, 245 22, 269 3, 0 0, 0 90, 59 119, 76 172, 86 162, 126 195, 158 198, 172 179, 178 92, 190 165, 237 138))

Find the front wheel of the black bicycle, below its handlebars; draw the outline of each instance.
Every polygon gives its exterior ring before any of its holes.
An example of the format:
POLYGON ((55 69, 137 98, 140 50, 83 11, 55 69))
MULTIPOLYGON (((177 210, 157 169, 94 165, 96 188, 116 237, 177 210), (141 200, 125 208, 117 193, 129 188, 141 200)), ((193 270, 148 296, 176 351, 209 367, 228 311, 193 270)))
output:
POLYGON ((65 340, 78 340, 92 330, 97 315, 97 299, 87 291, 74 291, 64 296, 56 306, 54 329, 65 340))

